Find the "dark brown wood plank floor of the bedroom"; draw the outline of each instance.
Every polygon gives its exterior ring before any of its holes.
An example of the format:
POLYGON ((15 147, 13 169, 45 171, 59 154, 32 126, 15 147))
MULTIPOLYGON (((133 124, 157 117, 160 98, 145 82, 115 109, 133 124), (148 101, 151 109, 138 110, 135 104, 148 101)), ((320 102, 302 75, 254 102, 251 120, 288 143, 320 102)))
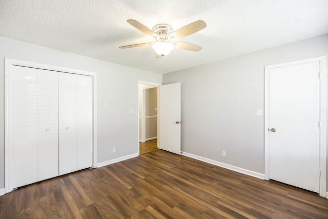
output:
POLYGON ((157 150, 0 196, 0 218, 328 218, 328 200, 157 150))

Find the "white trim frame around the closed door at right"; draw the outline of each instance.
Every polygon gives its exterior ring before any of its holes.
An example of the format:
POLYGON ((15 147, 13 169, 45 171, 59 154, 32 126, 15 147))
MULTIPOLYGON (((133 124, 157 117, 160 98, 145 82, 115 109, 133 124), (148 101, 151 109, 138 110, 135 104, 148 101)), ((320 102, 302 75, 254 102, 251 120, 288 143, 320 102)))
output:
MULTIPOLYGON (((326 56, 301 59, 294 62, 286 62, 265 66, 264 73, 264 179, 269 180, 269 72, 270 69, 300 65, 311 62, 320 62, 320 155, 319 155, 319 195, 327 196, 326 191, 326 56)), ((318 121, 319 122, 319 121, 318 121)))

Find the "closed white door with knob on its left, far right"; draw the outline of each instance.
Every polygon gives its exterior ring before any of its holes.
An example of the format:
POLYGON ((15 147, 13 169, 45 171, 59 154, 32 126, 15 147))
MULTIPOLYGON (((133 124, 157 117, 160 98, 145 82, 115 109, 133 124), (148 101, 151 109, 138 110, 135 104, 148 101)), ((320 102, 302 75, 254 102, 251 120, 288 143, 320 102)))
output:
POLYGON ((319 192, 320 63, 269 72, 269 177, 319 192))

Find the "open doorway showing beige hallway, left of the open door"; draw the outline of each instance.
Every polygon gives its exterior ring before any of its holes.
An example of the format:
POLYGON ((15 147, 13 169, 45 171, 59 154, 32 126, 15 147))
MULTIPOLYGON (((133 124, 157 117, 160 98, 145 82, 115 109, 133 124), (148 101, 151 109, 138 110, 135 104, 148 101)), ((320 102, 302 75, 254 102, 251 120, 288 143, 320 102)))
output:
POLYGON ((158 150, 158 86, 139 82, 139 155, 158 150))

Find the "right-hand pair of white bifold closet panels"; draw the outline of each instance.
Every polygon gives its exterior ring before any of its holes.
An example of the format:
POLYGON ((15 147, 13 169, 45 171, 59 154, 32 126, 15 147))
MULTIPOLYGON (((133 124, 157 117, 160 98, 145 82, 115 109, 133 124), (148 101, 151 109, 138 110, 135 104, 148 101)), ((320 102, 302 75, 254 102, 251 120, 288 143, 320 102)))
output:
POLYGON ((92 78, 59 73, 59 175, 92 166, 92 78))

